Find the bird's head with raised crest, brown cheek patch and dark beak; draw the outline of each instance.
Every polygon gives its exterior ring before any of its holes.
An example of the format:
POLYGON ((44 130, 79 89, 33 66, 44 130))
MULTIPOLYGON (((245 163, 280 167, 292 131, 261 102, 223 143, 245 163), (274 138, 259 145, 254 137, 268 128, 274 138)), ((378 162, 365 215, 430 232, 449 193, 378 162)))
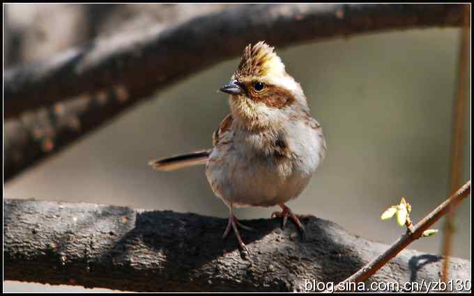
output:
POLYGON ((245 47, 231 81, 220 91, 230 94, 234 119, 250 130, 271 128, 307 111, 300 84, 286 73, 273 47, 263 41, 245 47))

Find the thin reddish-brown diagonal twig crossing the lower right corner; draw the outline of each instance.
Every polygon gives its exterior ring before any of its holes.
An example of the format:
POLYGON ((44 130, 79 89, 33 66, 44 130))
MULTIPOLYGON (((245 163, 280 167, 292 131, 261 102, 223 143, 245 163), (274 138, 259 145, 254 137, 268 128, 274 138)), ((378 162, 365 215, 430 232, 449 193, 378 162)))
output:
POLYGON ((377 272, 377 270, 381 269, 383 265, 387 264, 390 259, 394 258, 399 254, 400 251, 405 249, 408 244, 411 244, 414 240, 418 240, 421 237, 423 232, 427 230, 431 225, 433 225, 438 219, 443 217, 450 208, 454 208, 460 201, 466 198, 471 193, 471 180, 466 182, 463 187, 459 188, 457 192, 452 194, 446 201, 438 205, 438 208, 434 209, 430 212, 425 218, 423 218, 418 224, 413 227, 413 232, 407 231, 402 237, 400 237, 396 242, 390 246, 387 251, 383 252, 379 257, 375 258, 367 265, 362 267, 358 272, 349 276, 349 278, 345 279, 341 283, 336 286, 345 286, 346 283, 357 283, 360 281, 365 281, 368 279, 372 274, 377 272))

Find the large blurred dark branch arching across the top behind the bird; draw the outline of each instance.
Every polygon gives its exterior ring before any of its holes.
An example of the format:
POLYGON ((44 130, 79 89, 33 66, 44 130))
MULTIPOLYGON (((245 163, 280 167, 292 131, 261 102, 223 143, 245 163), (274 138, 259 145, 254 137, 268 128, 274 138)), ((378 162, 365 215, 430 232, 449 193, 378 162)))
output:
POLYGON ((117 35, 4 73, 5 116, 123 85, 151 95, 192 72, 236 56, 249 42, 282 47, 357 33, 460 26, 453 4, 240 5, 169 29, 117 35))

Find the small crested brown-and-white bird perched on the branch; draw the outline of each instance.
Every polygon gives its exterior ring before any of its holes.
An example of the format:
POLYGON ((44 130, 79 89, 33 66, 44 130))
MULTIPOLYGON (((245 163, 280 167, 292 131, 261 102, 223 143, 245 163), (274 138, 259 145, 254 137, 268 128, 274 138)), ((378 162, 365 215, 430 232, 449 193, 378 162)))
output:
POLYGON ((236 207, 279 205, 282 226, 290 217, 303 235, 305 228, 285 205, 298 197, 326 155, 321 125, 309 114, 300 84, 286 73, 273 47, 260 41, 247 45, 229 84, 230 114, 213 133, 213 148, 149 162, 158 171, 206 164, 206 177, 216 196, 229 208, 229 222, 238 244, 248 253, 234 215, 236 207))

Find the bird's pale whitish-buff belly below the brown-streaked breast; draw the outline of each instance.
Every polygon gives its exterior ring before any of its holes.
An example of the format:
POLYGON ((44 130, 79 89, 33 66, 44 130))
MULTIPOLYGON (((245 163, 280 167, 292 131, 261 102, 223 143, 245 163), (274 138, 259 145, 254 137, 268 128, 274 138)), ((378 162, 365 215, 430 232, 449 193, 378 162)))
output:
POLYGON ((291 158, 252 152, 243 141, 213 148, 206 176, 215 194, 235 206, 269 207, 296 198, 307 187, 326 149, 322 130, 294 123, 286 134, 291 158), (298 126, 296 126, 298 125, 298 126))

